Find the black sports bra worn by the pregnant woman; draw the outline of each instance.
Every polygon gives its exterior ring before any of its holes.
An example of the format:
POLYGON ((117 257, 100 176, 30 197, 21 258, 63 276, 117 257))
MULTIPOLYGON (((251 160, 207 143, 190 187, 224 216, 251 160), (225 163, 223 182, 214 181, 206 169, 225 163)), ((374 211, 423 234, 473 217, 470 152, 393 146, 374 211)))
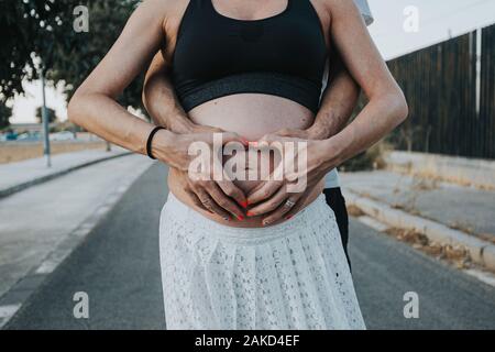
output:
POLYGON ((309 0, 261 20, 220 14, 211 0, 190 0, 172 62, 172 78, 187 111, 228 95, 284 97, 319 108, 327 45, 309 0))

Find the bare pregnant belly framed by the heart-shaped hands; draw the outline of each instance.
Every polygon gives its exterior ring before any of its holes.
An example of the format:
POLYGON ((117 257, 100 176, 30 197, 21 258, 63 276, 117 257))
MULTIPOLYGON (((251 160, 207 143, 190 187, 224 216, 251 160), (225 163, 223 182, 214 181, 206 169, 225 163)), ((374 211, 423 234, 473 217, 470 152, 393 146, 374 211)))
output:
MULTIPOLYGON (((275 96, 258 95, 258 94, 241 94, 222 97, 216 100, 208 101, 191 111, 189 117, 193 122, 202 125, 210 125, 222 129, 224 131, 239 133, 249 141, 257 141, 263 135, 274 133, 282 129, 307 129, 312 124, 314 114, 307 108, 275 96)), ((250 157, 257 157, 257 153, 250 152, 245 160, 245 168, 249 169, 252 165, 250 157)), ((232 156, 238 157, 238 156, 232 156)), ((227 157, 224 162, 227 162, 227 157)), ((268 160, 270 170, 273 170, 273 158, 268 160)), ((258 163, 257 175, 261 175, 262 163, 258 163)), ((246 179, 234 180, 234 184, 241 188, 245 195, 254 187, 261 184, 262 179, 246 179)), ((175 169, 170 169, 168 174, 168 185, 170 191, 184 204, 190 208, 202 213, 205 217, 229 227, 241 228, 258 228, 262 227, 264 216, 246 217, 245 220, 239 221, 235 218, 231 221, 224 221, 220 216, 212 215, 197 207, 186 194, 184 183, 180 182, 180 176, 175 169)), ((311 195, 306 200, 307 205, 311 204, 323 189, 323 183, 315 187, 311 195)), ((280 221, 285 221, 282 219, 280 221)), ((273 224, 276 224, 277 221, 273 224)))

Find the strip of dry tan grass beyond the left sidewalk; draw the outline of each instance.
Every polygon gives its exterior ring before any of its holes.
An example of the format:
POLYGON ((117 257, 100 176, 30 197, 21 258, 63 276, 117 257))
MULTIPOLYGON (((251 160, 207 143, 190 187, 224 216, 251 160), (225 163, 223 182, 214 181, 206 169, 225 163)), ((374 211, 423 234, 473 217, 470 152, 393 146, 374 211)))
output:
MULTIPOLYGON (((51 143, 52 154, 63 154, 96 148, 102 150, 106 148, 106 143, 101 141, 81 142, 81 143, 74 143, 74 142, 51 143)), ((30 143, 25 145, 19 144, 0 145, 0 164, 21 162, 41 156, 43 156, 42 143, 33 143, 33 144, 30 143)))

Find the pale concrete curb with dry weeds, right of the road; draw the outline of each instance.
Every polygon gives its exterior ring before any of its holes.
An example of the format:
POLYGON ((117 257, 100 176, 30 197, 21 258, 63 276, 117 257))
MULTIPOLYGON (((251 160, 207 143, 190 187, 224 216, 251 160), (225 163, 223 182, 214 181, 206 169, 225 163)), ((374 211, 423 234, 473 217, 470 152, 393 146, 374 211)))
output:
POLYGON ((428 239, 441 244, 461 245, 466 249, 471 260, 495 270, 495 245, 480 240, 465 232, 451 229, 437 221, 413 216, 394 209, 386 204, 360 196, 349 188, 342 189, 348 205, 360 208, 367 216, 375 218, 391 227, 415 230, 428 239))

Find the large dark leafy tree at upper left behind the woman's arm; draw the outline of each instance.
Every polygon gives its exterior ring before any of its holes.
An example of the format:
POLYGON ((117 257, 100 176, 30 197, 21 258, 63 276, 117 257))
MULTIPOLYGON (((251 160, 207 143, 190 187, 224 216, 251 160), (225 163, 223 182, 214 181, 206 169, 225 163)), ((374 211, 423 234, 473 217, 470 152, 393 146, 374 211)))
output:
MULTIPOLYGON (((23 92, 23 79, 37 79, 43 64, 52 84, 65 82, 68 98, 101 61, 139 0, 0 0, 0 99, 23 92), (88 10, 88 32, 75 30, 75 9, 88 10), (3 64, 7 63, 7 64, 3 64)), ((143 77, 119 101, 141 108, 143 77)))

